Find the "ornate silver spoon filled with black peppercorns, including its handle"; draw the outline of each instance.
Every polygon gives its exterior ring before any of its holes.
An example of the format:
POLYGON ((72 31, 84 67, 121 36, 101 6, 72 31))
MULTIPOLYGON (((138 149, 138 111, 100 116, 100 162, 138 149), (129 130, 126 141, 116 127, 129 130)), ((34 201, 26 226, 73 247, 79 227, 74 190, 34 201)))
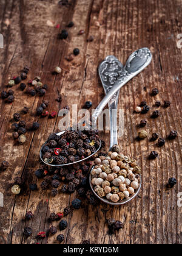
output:
MULTIPOLYGON (((96 121, 106 104, 130 79, 140 73, 152 59, 149 49, 133 52, 116 81, 92 115, 92 130, 64 130, 52 133, 40 151, 42 162, 49 166, 68 166, 93 157, 102 147, 96 130, 96 121)), ((110 67, 112 68, 112 66, 110 67)), ((115 127, 113 127, 115 130, 115 127)))

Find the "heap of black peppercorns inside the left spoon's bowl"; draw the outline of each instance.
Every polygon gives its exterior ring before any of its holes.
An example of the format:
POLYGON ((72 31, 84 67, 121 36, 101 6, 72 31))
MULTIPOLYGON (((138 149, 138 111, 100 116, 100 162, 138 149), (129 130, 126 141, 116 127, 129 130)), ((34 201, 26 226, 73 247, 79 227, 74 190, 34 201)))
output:
MULTIPOLYGON (((60 136, 52 133, 42 148, 42 158, 55 165, 74 163, 96 152, 99 144, 98 134, 90 130, 71 130, 60 136)), ((101 153, 105 155, 106 150, 101 149, 101 153)))

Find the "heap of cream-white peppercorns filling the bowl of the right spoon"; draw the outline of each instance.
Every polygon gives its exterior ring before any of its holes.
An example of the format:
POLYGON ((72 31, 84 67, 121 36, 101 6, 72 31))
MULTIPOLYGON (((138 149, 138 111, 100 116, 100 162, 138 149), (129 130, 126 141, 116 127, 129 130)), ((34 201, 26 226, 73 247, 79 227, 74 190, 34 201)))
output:
POLYGON ((114 145, 106 157, 95 159, 91 171, 93 190, 109 201, 122 201, 140 187, 140 172, 136 160, 121 154, 120 146, 114 145))

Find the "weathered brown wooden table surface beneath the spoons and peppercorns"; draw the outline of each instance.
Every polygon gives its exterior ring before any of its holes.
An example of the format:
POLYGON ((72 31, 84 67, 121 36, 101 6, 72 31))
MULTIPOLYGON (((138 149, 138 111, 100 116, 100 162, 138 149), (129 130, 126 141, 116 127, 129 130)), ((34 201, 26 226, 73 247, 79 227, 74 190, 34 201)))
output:
MULTIPOLYGON (((29 79, 41 76, 49 85, 44 99, 50 100, 49 111, 57 111, 72 104, 82 108, 87 100, 95 108, 104 96, 99 82, 97 68, 110 54, 125 63, 127 57, 138 48, 148 47, 153 54, 152 63, 127 86, 121 89, 119 108, 124 110, 124 135, 119 138, 124 154, 136 157, 142 167, 143 184, 139 196, 122 207, 105 204, 85 204, 67 216, 69 227, 63 230, 64 243, 181 243, 182 207, 178 196, 182 192, 181 182, 181 49, 177 47, 178 34, 182 28, 181 0, 79 0, 69 5, 58 5, 58 0, 1 0, 0 32, 4 35, 4 49, 0 49, 0 85, 6 90, 8 79, 20 74, 24 65, 30 66, 29 79), (60 24, 50 26, 50 21, 60 24), (58 40, 59 30, 73 21, 69 37, 58 40), (78 31, 85 33, 78 36, 78 31), (94 41, 87 42, 93 35, 94 41), (80 54, 72 62, 66 55, 79 48, 80 54), (61 66, 62 73, 52 75, 55 66, 61 66), (144 87, 146 90, 144 90, 144 87), (152 88, 160 93, 150 96, 152 88), (55 99, 62 94, 61 104, 55 99), (160 107, 161 115, 151 119, 151 111, 141 116, 133 113, 136 105, 146 100, 152 110, 156 100, 171 101, 169 108, 160 107), (158 132, 166 138, 170 130, 178 131, 178 137, 158 148, 147 140, 135 140, 138 133, 136 124, 147 119, 149 135, 158 132), (156 150, 159 157, 148 160, 150 151, 156 150), (169 177, 176 177, 177 185, 166 190, 169 177), (178 204, 177 204, 178 202, 178 204), (108 210, 107 212, 105 210, 108 210), (106 215, 106 216, 105 216, 106 215), (124 228, 115 235, 108 235, 105 218, 123 221, 124 228)), ((36 182, 34 175, 39 166, 39 149, 47 135, 58 130, 59 118, 38 118, 36 107, 41 104, 39 96, 27 96, 15 85, 15 102, 5 104, 0 99, 0 160, 7 160, 10 167, 0 173, 0 191, 4 194, 4 207, 0 207, 0 243, 36 243, 38 231, 47 230, 46 221, 50 212, 60 212, 78 197, 77 193, 59 193, 50 196, 50 191, 30 192, 28 186, 20 196, 13 196, 11 187, 16 176, 22 176, 27 185, 36 182), (28 142, 19 146, 12 138, 13 113, 22 107, 30 107, 26 121, 36 120, 41 125, 36 132, 27 133, 28 142), (27 210, 34 213, 30 222, 22 221, 27 210), (23 238, 25 226, 33 229, 33 235, 23 238)), ((109 132, 103 133, 109 143, 109 132)), ((39 241, 56 243, 56 235, 39 241)))

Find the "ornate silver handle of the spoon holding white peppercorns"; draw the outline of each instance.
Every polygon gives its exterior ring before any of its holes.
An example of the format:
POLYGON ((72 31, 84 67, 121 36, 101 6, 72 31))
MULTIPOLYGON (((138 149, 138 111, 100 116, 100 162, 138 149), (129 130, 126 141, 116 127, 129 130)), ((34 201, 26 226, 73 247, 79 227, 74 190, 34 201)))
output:
MULTIPOLYGON (((123 64, 116 59, 115 56, 109 55, 99 65, 99 77, 103 84, 103 88, 106 94, 115 84, 116 80, 121 76, 123 71, 123 64)), ((110 148, 114 144, 118 144, 117 136, 117 105, 120 90, 118 90, 110 99, 108 103, 109 117, 110 117, 110 148)))

